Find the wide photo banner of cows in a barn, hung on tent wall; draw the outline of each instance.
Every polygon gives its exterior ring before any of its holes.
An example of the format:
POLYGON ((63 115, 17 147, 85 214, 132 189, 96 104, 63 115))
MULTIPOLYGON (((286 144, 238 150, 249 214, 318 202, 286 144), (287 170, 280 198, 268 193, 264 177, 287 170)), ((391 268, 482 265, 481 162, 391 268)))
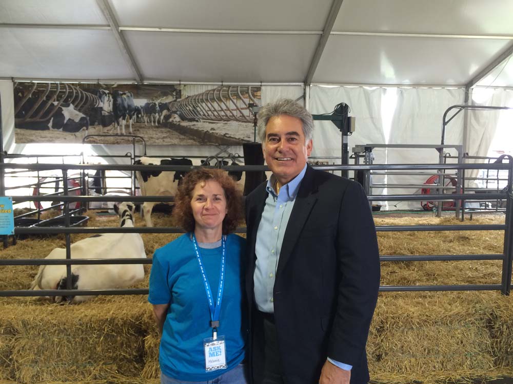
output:
POLYGON ((17 82, 16 143, 241 145, 254 141, 257 86, 17 82), (86 137, 87 136, 87 137, 86 137))

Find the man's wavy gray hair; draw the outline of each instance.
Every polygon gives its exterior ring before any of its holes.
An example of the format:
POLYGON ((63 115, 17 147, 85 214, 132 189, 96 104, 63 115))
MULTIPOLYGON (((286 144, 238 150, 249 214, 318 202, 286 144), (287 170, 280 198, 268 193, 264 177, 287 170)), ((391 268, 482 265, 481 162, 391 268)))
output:
POLYGON ((265 142, 265 127, 269 119, 273 116, 288 115, 296 117, 303 123, 303 134, 305 135, 305 144, 313 136, 313 118, 310 112, 304 106, 291 99, 279 99, 272 103, 264 105, 258 113, 258 137, 262 143, 265 142))

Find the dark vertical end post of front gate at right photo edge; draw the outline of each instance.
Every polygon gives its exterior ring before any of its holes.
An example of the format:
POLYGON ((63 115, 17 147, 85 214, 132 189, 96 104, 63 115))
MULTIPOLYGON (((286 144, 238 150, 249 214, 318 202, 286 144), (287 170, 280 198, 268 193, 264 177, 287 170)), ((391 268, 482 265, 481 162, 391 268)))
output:
POLYGON ((504 230, 504 259, 502 261, 503 295, 509 295, 511 290, 511 265, 513 262, 513 162, 509 164, 509 175, 506 199, 506 229, 504 230))

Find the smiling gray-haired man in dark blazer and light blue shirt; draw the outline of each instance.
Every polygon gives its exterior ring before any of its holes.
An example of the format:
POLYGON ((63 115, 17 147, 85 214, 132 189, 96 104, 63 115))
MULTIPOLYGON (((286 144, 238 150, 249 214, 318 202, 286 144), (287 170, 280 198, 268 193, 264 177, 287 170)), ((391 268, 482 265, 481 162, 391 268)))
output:
POLYGON ((307 165, 313 120, 298 103, 268 104, 258 123, 272 176, 246 198, 250 376, 366 383, 380 262, 365 192, 307 165))

